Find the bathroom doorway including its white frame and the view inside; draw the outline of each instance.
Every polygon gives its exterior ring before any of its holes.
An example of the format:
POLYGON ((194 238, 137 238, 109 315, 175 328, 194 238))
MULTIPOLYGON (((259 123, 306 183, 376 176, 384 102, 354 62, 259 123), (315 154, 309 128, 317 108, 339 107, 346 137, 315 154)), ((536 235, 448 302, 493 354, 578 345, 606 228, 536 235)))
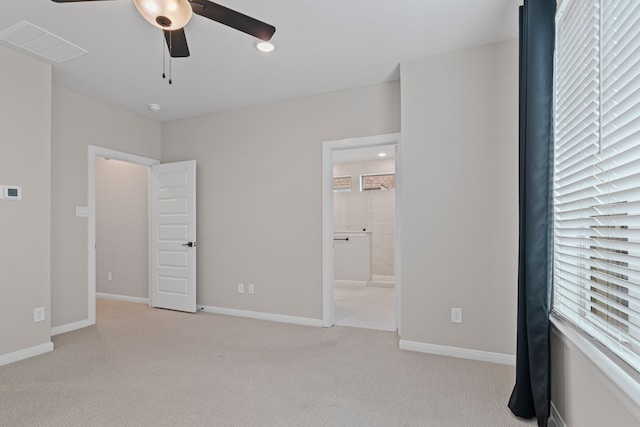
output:
POLYGON ((323 144, 324 326, 400 327, 399 143, 323 144))

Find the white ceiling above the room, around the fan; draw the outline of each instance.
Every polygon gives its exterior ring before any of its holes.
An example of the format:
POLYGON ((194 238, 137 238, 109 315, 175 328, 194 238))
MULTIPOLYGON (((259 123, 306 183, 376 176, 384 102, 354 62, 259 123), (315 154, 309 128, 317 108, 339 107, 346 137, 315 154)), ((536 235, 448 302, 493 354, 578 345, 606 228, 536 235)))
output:
POLYGON ((220 0, 276 27, 276 52, 194 15, 191 56, 162 79, 161 30, 131 0, 2 0, 0 32, 27 20, 89 51, 53 66, 55 84, 157 121, 399 78, 399 63, 517 37, 517 0, 220 0), (149 111, 149 103, 162 105, 149 111))

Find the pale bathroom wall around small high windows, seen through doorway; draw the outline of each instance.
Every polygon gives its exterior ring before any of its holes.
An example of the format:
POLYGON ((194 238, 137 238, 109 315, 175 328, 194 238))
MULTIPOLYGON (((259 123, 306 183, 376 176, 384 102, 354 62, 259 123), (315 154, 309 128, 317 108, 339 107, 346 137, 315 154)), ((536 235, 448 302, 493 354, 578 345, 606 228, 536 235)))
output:
POLYGON ((371 274, 393 276, 395 188, 360 191, 360 175, 394 173, 395 160, 335 163, 334 176, 351 176, 351 191, 333 193, 335 231, 371 231, 371 274))

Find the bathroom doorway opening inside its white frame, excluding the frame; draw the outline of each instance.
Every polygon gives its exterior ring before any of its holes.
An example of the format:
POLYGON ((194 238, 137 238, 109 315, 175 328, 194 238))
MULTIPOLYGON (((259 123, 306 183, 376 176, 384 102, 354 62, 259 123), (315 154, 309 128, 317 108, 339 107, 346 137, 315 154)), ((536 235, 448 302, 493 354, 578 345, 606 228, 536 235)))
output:
POLYGON ((395 331, 395 151, 333 152, 334 324, 395 331))

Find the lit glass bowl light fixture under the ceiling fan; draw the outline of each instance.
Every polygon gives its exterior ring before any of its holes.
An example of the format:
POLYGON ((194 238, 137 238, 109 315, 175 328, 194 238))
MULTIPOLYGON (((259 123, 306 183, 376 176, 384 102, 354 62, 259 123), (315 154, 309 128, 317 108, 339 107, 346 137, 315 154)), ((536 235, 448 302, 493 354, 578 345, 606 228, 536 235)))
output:
POLYGON ((188 0, 133 0, 133 4, 148 23, 163 30, 179 30, 193 16, 188 0))

